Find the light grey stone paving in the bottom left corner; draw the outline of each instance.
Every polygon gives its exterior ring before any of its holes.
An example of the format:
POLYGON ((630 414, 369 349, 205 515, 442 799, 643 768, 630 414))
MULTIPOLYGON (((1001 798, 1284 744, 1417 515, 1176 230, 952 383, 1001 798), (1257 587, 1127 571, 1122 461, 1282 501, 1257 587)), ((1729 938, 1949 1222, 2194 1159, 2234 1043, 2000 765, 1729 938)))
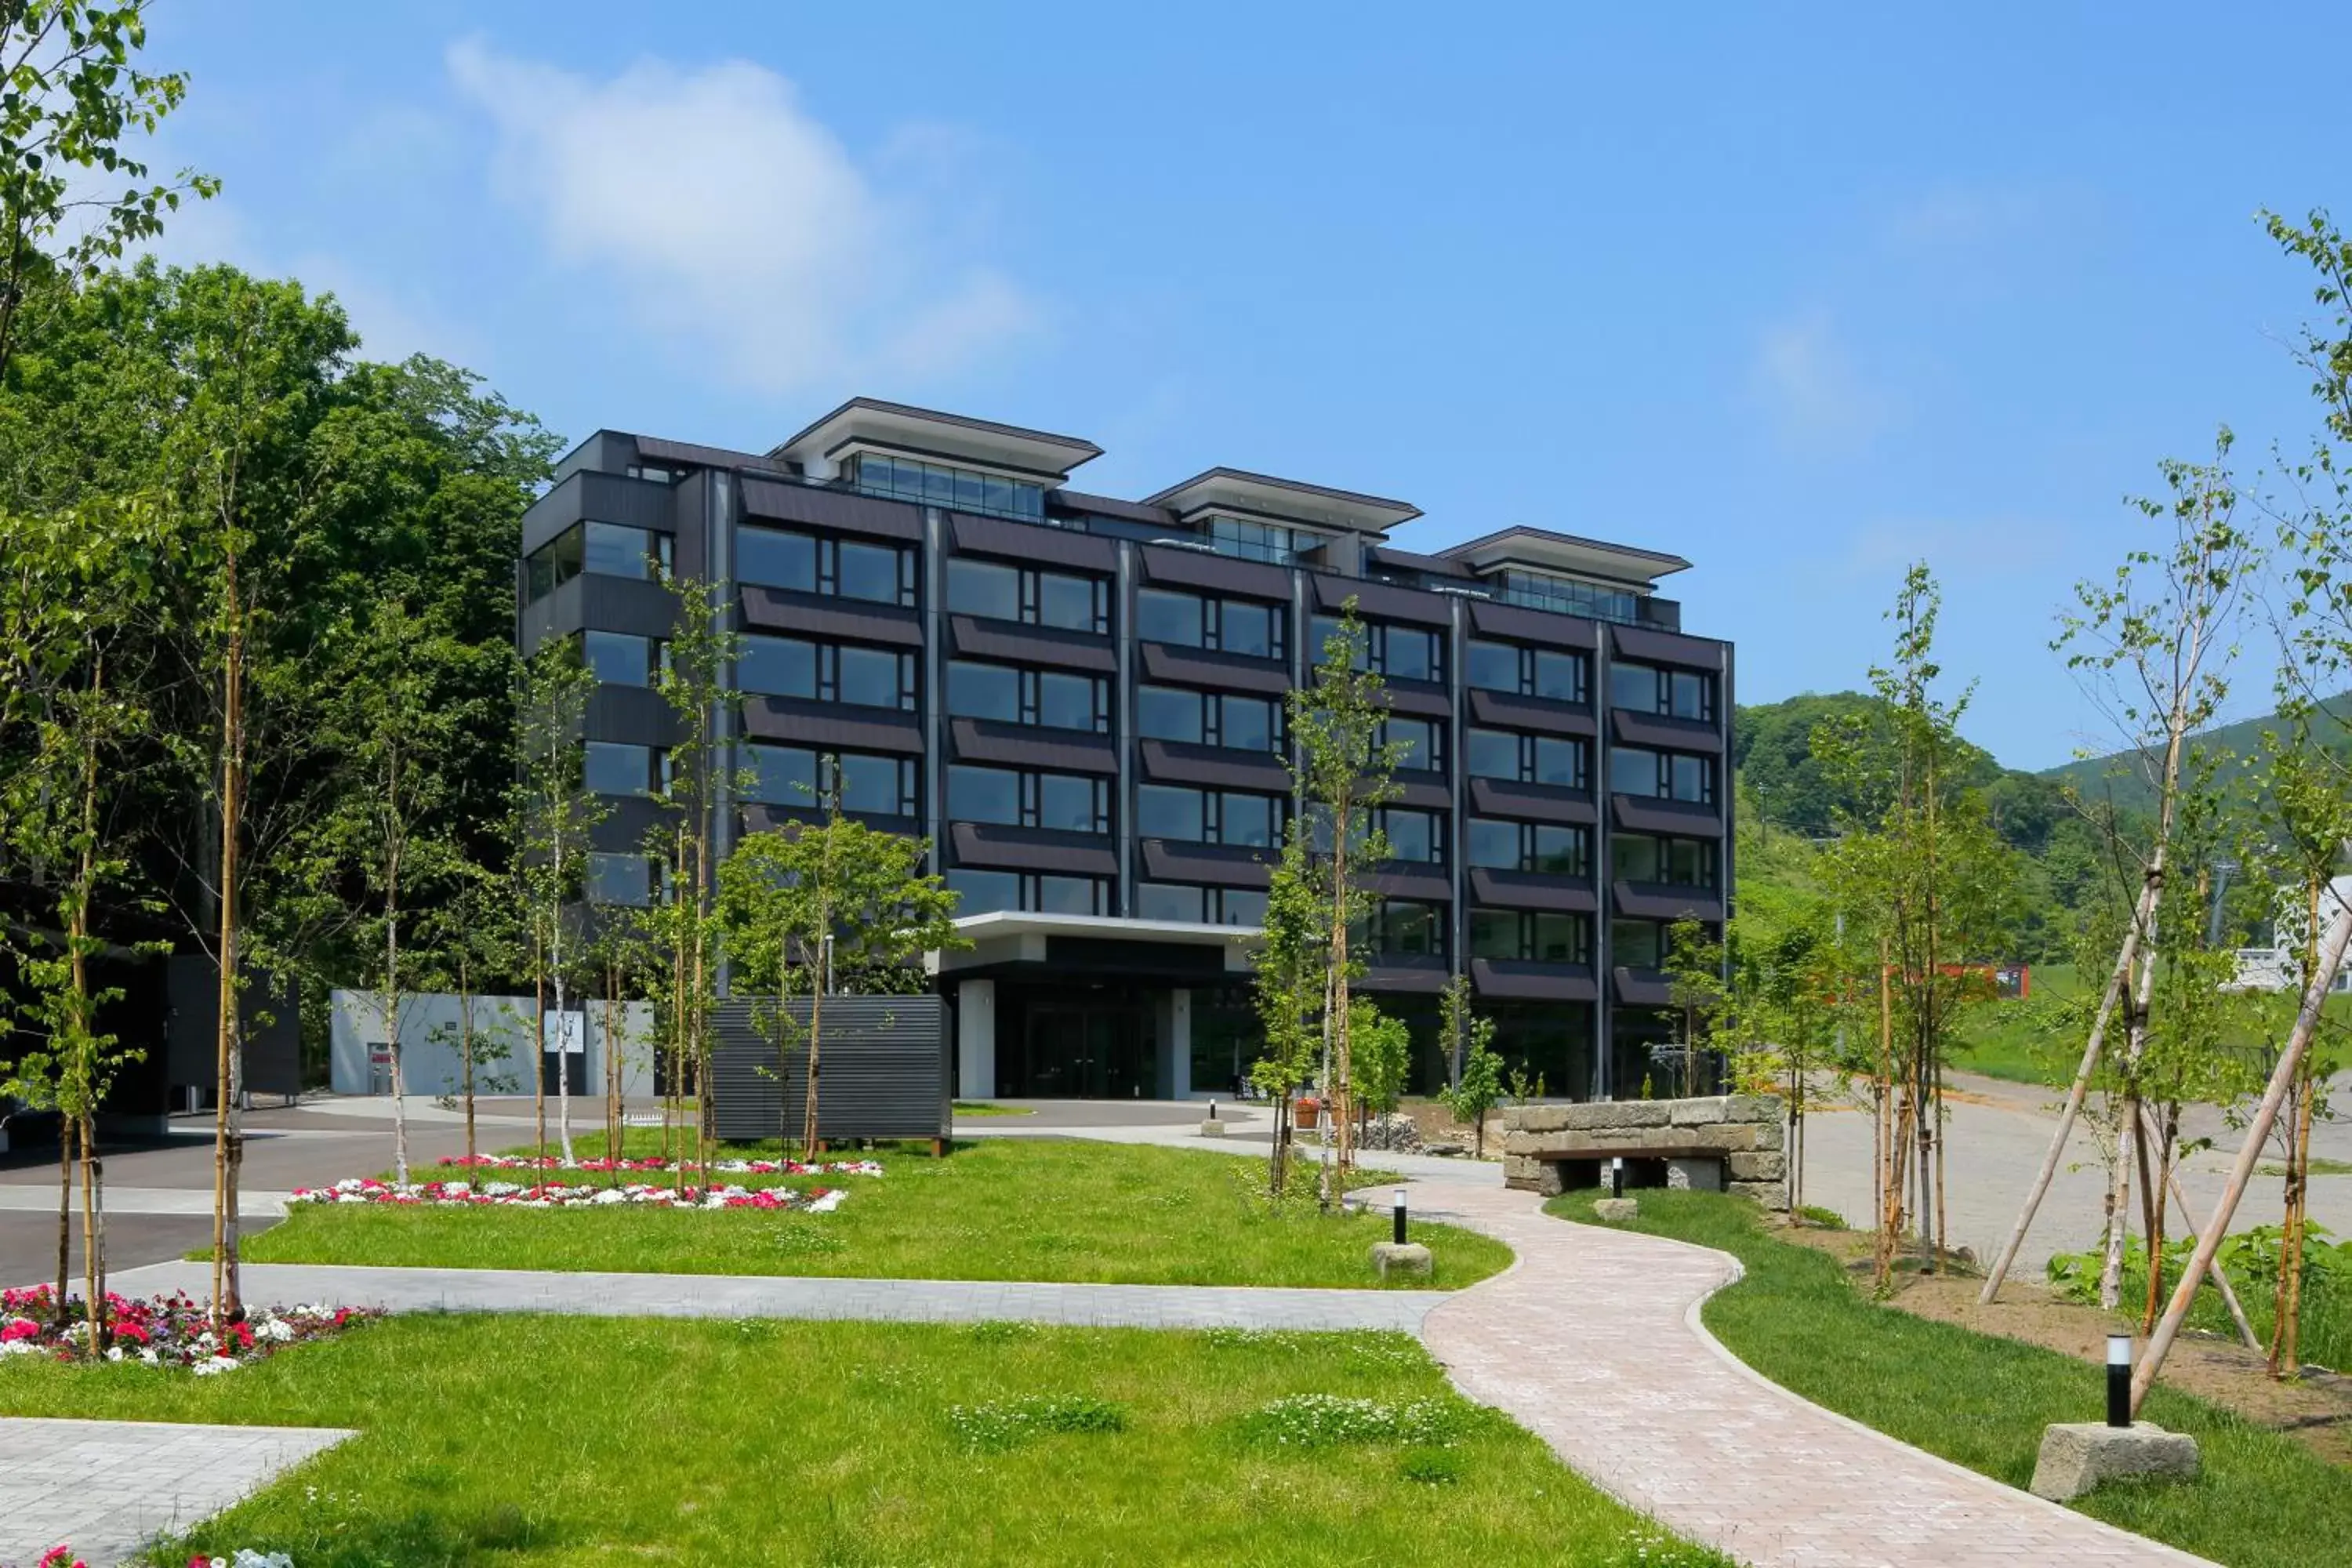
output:
POLYGON ((0 1563, 56 1544, 106 1568, 334 1448, 329 1427, 0 1418, 0 1563))

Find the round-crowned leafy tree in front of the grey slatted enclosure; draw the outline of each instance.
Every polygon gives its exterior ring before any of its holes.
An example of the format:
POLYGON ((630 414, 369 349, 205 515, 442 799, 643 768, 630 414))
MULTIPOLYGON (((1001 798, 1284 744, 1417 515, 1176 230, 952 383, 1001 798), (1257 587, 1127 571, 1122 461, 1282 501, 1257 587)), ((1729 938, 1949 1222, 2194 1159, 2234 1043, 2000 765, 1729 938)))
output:
MULTIPOLYGON (((818 1074, 826 992, 835 969, 891 969, 960 947, 955 893, 922 870, 929 839, 877 832, 840 811, 746 835, 717 872, 717 919, 736 983, 776 997, 779 1086, 790 1039, 790 999, 809 999, 807 1095, 800 1147, 818 1147, 818 1074)), ((786 1107, 790 1117, 790 1107, 786 1107)), ((779 1128, 779 1138, 788 1128, 779 1128)))

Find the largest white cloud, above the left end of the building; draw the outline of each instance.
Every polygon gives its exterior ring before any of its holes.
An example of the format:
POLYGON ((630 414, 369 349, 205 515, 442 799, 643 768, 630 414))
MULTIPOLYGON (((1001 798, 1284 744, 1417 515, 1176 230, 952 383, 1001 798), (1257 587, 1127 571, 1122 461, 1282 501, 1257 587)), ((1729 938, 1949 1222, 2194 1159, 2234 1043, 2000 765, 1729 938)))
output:
POLYGON ((494 188, 550 254, 623 280, 616 315, 736 383, 922 381, 1037 324, 1023 289, 955 259, 884 186, 903 148, 861 165, 764 66, 640 61, 588 80, 466 40, 449 73, 496 125, 494 188))

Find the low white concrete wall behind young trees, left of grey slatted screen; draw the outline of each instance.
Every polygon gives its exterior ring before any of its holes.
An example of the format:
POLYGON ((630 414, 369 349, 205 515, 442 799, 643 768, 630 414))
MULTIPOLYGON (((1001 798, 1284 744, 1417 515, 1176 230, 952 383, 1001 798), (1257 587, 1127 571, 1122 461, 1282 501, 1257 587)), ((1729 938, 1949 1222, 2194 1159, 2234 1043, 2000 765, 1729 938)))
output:
MULTIPOLYGON (((372 1070, 369 1058, 383 1048, 383 1013, 376 992, 332 997, 329 1084, 341 1095, 390 1093, 388 1067, 372 1070)), ((621 1051, 621 1093, 654 1093, 654 1006, 623 1001, 614 1011, 614 1034, 621 1051)), ((574 1011, 574 1018, 579 1013, 574 1011)), ((454 1095, 463 1091, 459 1060, 459 999, 421 992, 400 999, 400 1077, 412 1095, 454 1095)), ((576 1039, 579 1025, 574 1025, 576 1039)), ((473 1091, 532 1093, 536 1053, 532 1051, 529 997, 473 999, 473 1091)), ((548 1044, 555 1044, 555 1016, 548 1016, 548 1044)), ((604 1093, 604 1004, 586 1004, 586 1077, 588 1093, 604 1093)))

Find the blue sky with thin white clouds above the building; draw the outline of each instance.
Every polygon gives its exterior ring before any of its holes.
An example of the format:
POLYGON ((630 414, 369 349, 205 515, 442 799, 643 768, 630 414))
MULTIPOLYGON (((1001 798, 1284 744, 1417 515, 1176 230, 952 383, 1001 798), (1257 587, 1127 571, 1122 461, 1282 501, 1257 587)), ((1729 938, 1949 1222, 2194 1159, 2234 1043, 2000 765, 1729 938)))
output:
POLYGON ((2051 766, 2105 738, 2046 644, 2124 494, 2312 423, 2253 214, 2352 219, 2352 9, 1905 9, 167 0, 160 158, 226 190, 162 252, 567 437, 870 393, 1087 435, 1110 494, 1677 550, 1743 701, 1858 684, 1924 557, 1964 729, 2051 766))

